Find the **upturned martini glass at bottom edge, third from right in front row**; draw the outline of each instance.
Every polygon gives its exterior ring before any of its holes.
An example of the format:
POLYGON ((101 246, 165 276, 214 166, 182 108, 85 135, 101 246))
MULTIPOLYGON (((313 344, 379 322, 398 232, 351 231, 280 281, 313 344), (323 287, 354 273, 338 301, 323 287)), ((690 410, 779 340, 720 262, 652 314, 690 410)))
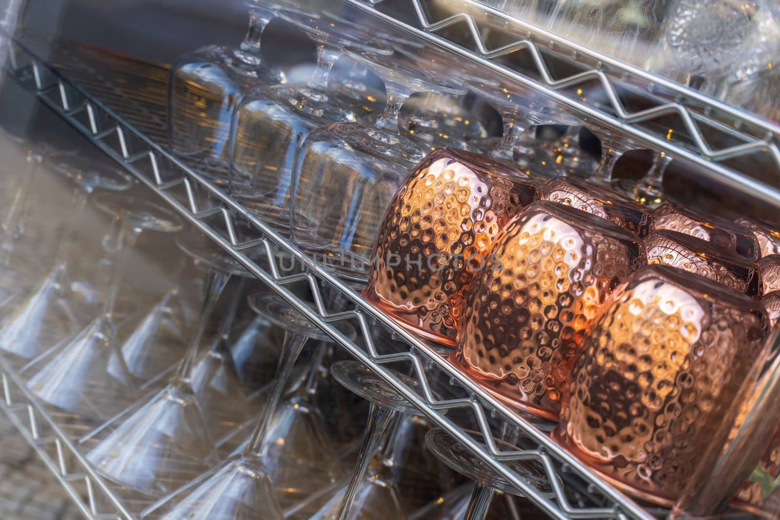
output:
MULTIPOLYGON (((303 345, 309 338, 322 339, 325 336, 318 327, 278 296, 263 293, 250 298, 250 305, 264 317, 289 327, 282 345, 282 356, 279 359, 273 393, 268 399, 261 419, 239 454, 233 455, 187 486, 152 504, 142 511, 142 518, 154 516, 165 520, 176 518, 192 520, 278 518, 281 520, 284 515, 275 488, 287 484, 302 486, 305 489, 317 480, 323 480, 322 476, 325 477, 325 481, 332 479, 329 471, 325 471, 324 475, 321 473, 321 467, 317 472, 306 475, 304 468, 310 469, 311 461, 307 461, 306 466, 301 469, 289 467, 296 464, 297 457, 317 458, 321 454, 316 452, 316 448, 322 445, 315 444, 310 447, 299 445, 302 451, 298 451, 299 455, 296 457, 287 458, 289 455, 282 455, 280 446, 296 439, 279 437, 280 434, 291 431, 287 426, 292 417, 285 410, 277 409, 285 384, 303 345), (279 413, 281 415, 278 415, 279 413), (272 421, 274 418, 275 420, 272 421)), ((352 327, 341 325, 336 327, 347 337, 355 335, 352 327)), ((295 404, 298 404, 300 409, 300 402, 293 403, 293 409, 295 404)), ((316 437, 307 438, 314 440, 316 437)), ((322 482, 317 485, 322 485, 322 482)), ((289 493, 290 498, 296 495, 295 490, 290 491, 285 490, 285 494, 289 493)))

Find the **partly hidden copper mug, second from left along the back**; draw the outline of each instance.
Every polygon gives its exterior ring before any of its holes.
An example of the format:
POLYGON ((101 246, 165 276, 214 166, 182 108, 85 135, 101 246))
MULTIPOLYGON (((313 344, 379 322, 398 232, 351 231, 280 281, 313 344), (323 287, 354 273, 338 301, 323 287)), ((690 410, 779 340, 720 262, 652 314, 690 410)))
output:
POLYGON ((759 255, 756 239, 748 230, 723 218, 677 203, 661 204, 653 211, 651 231, 656 229, 668 229, 695 236, 750 260, 756 260, 759 255))

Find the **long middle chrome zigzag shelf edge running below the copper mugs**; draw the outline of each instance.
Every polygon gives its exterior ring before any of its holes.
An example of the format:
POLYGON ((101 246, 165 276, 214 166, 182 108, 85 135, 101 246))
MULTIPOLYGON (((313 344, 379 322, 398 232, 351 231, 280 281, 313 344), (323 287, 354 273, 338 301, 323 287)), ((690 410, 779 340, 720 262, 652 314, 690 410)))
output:
MULTIPOLYGON (((231 254, 257 278, 264 281, 278 295, 294 306, 309 320, 317 324, 352 356, 377 373, 390 387, 416 406, 434 423, 447 430, 452 437, 468 447, 475 455, 533 501, 551 518, 654 518, 637 504, 595 476, 589 469, 562 450, 547 435, 537 430, 518 413, 509 409, 476 384, 463 377, 433 348, 425 345, 394 324, 380 311, 370 306, 360 294, 354 292, 339 278, 335 278, 314 260, 286 242, 254 214, 250 214, 230 199, 216 186, 207 182, 199 173, 168 154, 157 143, 148 139, 119 115, 100 101, 90 97, 87 91, 72 83, 66 76, 52 69, 34 51, 19 41, 10 44, 9 74, 23 88, 66 120, 99 150, 133 174, 138 181, 152 189, 166 203, 204 232, 210 239, 231 254), (176 193, 179 196, 176 196, 176 193), (204 202, 204 199, 206 202, 204 202), (216 221, 210 225, 207 221, 216 221), (247 238, 246 228, 252 231, 247 238), (248 249, 262 253, 261 267, 248 249), (277 262, 280 255, 292 257, 303 266, 303 272, 282 275, 277 262), (307 281, 314 295, 315 308, 293 295, 286 287, 296 281, 307 281), (328 311, 322 287, 329 286, 346 299, 352 308, 337 313, 328 311), (339 320, 353 320, 365 343, 361 348, 349 341, 333 327, 339 320), (374 344, 374 330, 379 324, 388 335, 406 343, 406 352, 383 354, 374 344), (410 363, 413 378, 419 382, 414 390, 391 370, 388 363, 410 363), (431 388, 429 373, 437 371, 444 380, 458 387, 466 398, 441 400, 431 388), (444 412, 461 409, 471 412, 479 425, 486 445, 473 440, 444 412), (494 440, 489 416, 500 416, 523 434, 523 439, 534 445, 533 449, 501 451, 494 440), (534 461, 544 469, 553 490, 553 497, 541 493, 502 462, 534 461), (565 487, 566 485, 566 487, 565 487), (569 490, 569 493, 566 493, 569 490), (572 490, 576 490, 572 500, 572 490)), ((399 342, 399 345, 401 343, 399 342)))

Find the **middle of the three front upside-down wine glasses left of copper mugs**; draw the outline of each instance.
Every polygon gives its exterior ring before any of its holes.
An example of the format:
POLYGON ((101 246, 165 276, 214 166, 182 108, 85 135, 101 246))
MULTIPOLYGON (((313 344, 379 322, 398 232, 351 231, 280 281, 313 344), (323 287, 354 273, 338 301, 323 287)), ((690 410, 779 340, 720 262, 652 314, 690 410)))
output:
POLYGON ((296 151, 312 130, 356 120, 351 104, 328 94, 328 75, 346 45, 376 53, 392 51, 363 39, 345 20, 295 11, 279 16, 304 30, 317 44, 317 69, 308 83, 251 90, 233 118, 230 193, 278 232, 289 234, 290 190, 296 151))

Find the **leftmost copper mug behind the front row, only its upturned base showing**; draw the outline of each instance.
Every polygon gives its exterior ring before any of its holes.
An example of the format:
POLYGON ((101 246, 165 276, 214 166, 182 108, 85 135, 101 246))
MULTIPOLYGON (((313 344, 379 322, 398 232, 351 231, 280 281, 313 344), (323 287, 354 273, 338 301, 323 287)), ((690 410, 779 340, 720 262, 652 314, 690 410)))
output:
POLYGON ((541 200, 576 207, 626 228, 637 235, 650 232, 653 214, 640 203, 621 193, 574 177, 559 177, 545 182, 541 200))

